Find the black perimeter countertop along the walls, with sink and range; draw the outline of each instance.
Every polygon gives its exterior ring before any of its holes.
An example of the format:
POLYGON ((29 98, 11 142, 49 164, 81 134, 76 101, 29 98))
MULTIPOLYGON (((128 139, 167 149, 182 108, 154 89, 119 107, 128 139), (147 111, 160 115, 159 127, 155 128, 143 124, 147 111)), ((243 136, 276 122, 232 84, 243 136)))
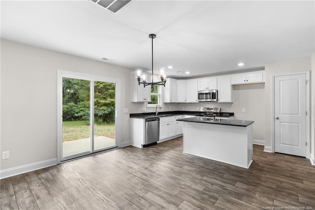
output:
MULTIPOLYGON (((154 117, 166 117, 166 116, 175 116, 175 115, 182 115, 182 114, 200 116, 204 114, 209 114, 209 112, 206 112, 206 111, 160 111, 158 112, 158 115, 156 115, 156 112, 144 112, 144 113, 131 113, 130 117, 148 119, 148 118, 154 118, 154 117)), ((234 113, 233 112, 220 112, 219 116, 232 117, 234 116, 234 113)))

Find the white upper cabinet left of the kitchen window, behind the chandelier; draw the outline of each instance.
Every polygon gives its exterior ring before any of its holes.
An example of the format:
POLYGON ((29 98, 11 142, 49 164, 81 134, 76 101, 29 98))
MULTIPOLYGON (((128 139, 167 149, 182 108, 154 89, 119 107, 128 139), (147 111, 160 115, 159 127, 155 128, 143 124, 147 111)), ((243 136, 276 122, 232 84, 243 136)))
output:
POLYGON ((131 102, 151 102, 151 85, 138 85, 135 72, 131 72, 131 102))

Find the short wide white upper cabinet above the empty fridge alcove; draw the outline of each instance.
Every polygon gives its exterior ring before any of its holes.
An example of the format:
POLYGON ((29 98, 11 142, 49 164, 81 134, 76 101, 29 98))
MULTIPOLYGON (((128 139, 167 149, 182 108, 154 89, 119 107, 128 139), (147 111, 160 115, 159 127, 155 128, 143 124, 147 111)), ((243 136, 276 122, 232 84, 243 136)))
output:
POLYGON ((263 71, 239 73, 231 76, 231 84, 248 84, 248 83, 259 83, 264 82, 263 71))

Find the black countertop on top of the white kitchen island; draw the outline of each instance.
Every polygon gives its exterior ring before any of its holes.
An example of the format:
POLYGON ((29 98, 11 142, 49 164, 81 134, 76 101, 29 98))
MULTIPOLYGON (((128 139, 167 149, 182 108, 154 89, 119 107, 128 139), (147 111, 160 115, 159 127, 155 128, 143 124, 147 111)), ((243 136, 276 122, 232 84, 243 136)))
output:
POLYGON ((209 124, 241 126, 241 127, 247 127, 254 122, 254 121, 249 121, 249 120, 214 119, 213 117, 190 117, 190 118, 185 118, 185 119, 178 119, 177 121, 209 123, 209 124))

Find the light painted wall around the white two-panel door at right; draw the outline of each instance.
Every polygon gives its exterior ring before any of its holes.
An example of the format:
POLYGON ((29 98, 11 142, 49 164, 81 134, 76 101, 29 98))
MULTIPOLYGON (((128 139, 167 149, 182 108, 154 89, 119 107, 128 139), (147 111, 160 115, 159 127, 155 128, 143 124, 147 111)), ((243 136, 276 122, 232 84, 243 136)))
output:
MULTIPOLYGON (((310 71, 311 68, 311 57, 292 59, 283 62, 269 63, 265 65, 265 96, 271 96, 271 76, 274 74, 288 73, 288 72, 297 72, 297 71, 310 71)), ((314 73, 314 70, 311 74, 314 73)), ((314 81, 311 81, 311 85, 314 81)), ((314 98, 314 93, 311 91, 311 98, 314 98)), ((272 133, 271 133, 271 97, 265 97, 265 142, 267 147, 271 147, 272 143, 272 133)), ((314 104, 312 105, 314 106, 314 104)), ((311 113, 314 117, 314 112, 311 113)), ((313 140, 314 142, 314 140, 313 140)), ((314 149, 314 144, 311 145, 314 149)))

